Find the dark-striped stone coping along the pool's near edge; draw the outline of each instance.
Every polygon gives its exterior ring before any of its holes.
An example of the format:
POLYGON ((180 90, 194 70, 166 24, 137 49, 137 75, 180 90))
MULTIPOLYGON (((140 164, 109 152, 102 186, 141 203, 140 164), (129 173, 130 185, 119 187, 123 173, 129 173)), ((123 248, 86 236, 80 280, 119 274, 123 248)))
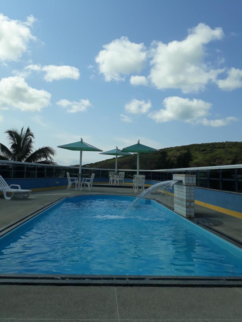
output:
POLYGON ((0 285, 241 287, 242 277, 1 274, 0 285))

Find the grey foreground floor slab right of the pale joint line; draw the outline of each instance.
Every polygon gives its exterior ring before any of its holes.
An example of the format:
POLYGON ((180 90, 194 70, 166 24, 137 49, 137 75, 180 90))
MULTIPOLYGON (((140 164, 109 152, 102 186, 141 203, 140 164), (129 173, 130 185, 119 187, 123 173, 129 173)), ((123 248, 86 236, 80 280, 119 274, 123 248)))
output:
POLYGON ((235 288, 116 287, 120 320, 241 319, 235 288))

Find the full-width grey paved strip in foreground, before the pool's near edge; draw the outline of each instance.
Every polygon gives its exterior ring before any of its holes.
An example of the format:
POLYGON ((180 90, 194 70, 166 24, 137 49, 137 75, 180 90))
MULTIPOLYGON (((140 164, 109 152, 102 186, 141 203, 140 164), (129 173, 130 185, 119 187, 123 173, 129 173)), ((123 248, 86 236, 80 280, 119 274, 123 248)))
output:
POLYGON ((0 286, 3 322, 242 321, 242 288, 0 286))

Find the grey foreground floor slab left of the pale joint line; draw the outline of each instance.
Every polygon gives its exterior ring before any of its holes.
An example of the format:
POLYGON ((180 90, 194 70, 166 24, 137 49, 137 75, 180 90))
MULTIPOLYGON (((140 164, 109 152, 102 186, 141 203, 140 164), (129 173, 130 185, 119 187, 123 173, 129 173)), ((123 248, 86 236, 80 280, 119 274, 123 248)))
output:
POLYGON ((0 306, 6 319, 118 319, 115 288, 109 286, 1 285, 0 306))

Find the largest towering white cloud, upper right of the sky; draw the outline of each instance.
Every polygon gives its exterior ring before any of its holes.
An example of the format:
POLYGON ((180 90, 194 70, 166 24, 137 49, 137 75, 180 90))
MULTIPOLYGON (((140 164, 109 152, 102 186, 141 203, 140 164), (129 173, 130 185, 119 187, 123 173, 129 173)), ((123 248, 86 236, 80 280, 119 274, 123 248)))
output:
POLYGON ((222 28, 211 29, 200 23, 188 30, 182 41, 168 44, 153 42, 150 51, 151 65, 148 79, 157 89, 181 89, 184 93, 204 90, 209 81, 214 81, 223 70, 213 70, 204 61, 205 45, 222 39, 222 28))

